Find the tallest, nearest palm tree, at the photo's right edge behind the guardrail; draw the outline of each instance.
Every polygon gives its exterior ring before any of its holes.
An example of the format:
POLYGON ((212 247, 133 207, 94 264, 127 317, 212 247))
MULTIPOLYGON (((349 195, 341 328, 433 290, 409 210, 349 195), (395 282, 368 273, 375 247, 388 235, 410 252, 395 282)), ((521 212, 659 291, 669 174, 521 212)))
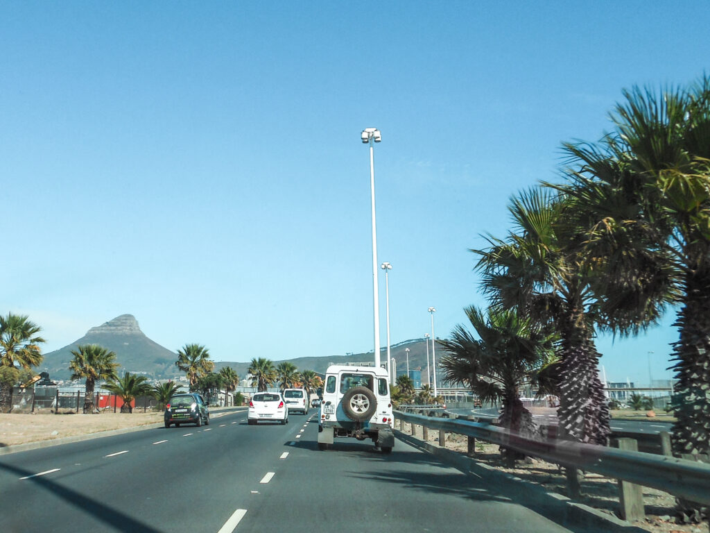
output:
MULTIPOLYGON (((710 77, 687 90, 623 95, 613 134, 566 145, 577 171, 561 188, 596 210, 589 241, 606 252, 611 277, 680 304, 673 451, 710 453, 710 77)), ((608 296, 621 313, 650 314, 643 297, 626 309, 608 296)))

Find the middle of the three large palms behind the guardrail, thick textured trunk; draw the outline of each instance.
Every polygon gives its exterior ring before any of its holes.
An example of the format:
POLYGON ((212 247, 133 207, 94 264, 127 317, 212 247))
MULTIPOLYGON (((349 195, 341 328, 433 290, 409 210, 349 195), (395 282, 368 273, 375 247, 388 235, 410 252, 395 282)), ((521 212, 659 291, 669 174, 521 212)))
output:
POLYGON ((489 237, 479 254, 484 293, 493 306, 518 309, 520 316, 559 334, 557 411, 563 438, 606 444, 608 404, 599 379, 595 325, 602 323, 596 284, 599 276, 584 251, 567 198, 534 188, 513 198, 510 213, 517 233, 489 237))

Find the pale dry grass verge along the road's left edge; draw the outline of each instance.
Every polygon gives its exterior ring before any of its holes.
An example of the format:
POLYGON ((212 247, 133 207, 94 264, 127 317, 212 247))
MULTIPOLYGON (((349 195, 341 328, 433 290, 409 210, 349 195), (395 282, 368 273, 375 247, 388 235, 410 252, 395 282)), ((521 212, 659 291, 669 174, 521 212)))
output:
POLYGON ((87 435, 163 421, 163 411, 121 414, 0 414, 0 447, 87 435))

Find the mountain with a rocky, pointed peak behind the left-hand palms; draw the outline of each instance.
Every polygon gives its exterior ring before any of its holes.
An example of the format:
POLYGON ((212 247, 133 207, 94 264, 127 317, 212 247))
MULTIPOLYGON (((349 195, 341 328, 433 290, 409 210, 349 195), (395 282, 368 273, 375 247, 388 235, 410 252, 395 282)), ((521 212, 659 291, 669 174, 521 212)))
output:
POLYGON ((156 379, 172 378, 180 373, 175 367, 178 355, 146 337, 133 315, 117 316, 89 329, 70 345, 46 353, 38 371, 47 368, 52 379, 70 379, 69 361, 74 357, 71 351, 82 344, 98 344, 116 352, 116 360, 121 365, 119 372, 141 372, 156 379))

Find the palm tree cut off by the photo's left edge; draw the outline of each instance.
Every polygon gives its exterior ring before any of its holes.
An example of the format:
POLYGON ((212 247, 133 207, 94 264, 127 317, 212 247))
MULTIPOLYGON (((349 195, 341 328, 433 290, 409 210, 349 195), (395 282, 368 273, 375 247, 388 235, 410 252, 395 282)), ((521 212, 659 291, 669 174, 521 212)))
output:
POLYGON ((42 328, 26 315, 0 316, 0 412, 9 412, 12 406, 12 387, 16 383, 18 367, 31 370, 43 359, 39 344, 42 328))

